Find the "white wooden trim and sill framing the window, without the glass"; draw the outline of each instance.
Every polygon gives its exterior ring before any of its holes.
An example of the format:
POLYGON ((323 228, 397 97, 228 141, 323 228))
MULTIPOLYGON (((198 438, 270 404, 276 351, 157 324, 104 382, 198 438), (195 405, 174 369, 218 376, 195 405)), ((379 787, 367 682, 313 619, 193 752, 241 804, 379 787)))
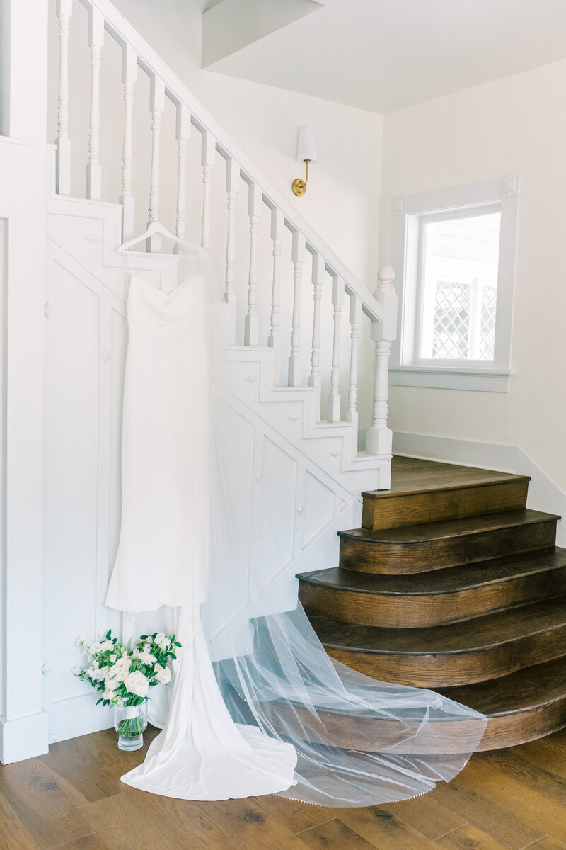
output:
POLYGON ((389 383, 401 387, 468 389, 507 393, 511 369, 513 331, 513 292, 517 254, 518 174, 483 180, 446 189, 396 195, 392 201, 391 264, 395 269, 399 294, 397 338, 391 346, 389 383), (497 326, 494 360, 453 361, 450 364, 417 362, 415 352, 418 318, 418 231, 423 217, 434 213, 501 203, 502 221, 497 275, 497 326), (469 365, 465 365, 468 362, 469 365))

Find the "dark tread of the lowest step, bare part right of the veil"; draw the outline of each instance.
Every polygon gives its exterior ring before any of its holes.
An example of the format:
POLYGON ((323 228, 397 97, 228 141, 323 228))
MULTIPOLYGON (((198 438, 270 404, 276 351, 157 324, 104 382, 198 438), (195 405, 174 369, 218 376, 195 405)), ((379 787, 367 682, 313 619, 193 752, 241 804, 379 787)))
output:
POLYGON ((489 682, 440 688, 439 693, 486 717, 506 717, 541 709, 558 700, 566 702, 566 655, 489 682))

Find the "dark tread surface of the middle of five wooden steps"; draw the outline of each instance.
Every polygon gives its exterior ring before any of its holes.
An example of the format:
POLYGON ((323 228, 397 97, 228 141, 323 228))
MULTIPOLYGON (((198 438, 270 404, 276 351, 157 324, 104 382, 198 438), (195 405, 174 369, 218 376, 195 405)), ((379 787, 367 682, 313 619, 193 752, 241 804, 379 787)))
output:
POLYGON ((329 587, 335 590, 352 591, 388 596, 439 596, 462 592, 474 587, 513 581, 518 576, 539 575, 566 567, 566 549, 554 548, 535 552, 506 555, 478 561, 475 564, 457 564, 444 570, 429 570, 411 575, 383 575, 362 573, 332 567, 299 573, 297 578, 306 584, 329 587))

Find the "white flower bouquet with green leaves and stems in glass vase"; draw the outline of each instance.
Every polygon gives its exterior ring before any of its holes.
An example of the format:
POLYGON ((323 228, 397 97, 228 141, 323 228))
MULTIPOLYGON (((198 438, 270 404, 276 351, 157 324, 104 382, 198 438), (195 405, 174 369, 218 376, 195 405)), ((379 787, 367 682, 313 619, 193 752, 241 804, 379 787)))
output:
MULTIPOLYGON (((156 685, 171 682, 171 660, 177 659, 176 649, 181 646, 175 635, 166 637, 162 632, 140 635, 134 649, 126 649, 106 632, 102 642, 90 643, 81 635, 76 640, 87 654, 88 666, 76 664, 72 672, 103 694, 97 706, 140 706, 149 700, 149 692, 156 685)), ((143 731, 139 717, 126 717, 120 726, 121 735, 143 731), (123 728, 122 728, 123 727, 123 728), (132 727, 132 728, 131 728, 132 727)))

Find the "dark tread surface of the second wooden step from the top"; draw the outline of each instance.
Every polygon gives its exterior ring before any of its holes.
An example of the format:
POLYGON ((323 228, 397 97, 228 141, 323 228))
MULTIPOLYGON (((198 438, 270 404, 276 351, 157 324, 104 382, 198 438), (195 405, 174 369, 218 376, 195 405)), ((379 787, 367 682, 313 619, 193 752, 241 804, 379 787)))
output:
POLYGON ((531 511, 527 508, 505 511, 503 513, 486 513, 479 517, 464 519, 447 519, 440 523, 401 526, 401 528, 376 530, 349 529, 339 531, 338 536, 344 540, 356 540, 369 543, 422 543, 451 537, 461 537, 474 533, 484 533, 501 529, 510 529, 517 525, 541 523, 560 519, 556 513, 531 511))

